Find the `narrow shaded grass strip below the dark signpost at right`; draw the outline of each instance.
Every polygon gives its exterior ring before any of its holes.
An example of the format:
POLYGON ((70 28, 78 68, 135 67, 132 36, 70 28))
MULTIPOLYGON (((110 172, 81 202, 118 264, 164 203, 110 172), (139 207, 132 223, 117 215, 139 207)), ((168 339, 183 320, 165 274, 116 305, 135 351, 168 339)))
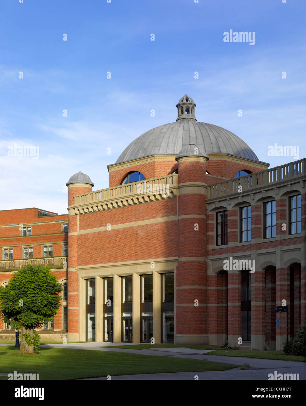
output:
POLYGON ((279 359, 283 361, 306 361, 304 356, 286 356, 283 351, 219 350, 207 352, 205 355, 245 356, 248 358, 279 359))

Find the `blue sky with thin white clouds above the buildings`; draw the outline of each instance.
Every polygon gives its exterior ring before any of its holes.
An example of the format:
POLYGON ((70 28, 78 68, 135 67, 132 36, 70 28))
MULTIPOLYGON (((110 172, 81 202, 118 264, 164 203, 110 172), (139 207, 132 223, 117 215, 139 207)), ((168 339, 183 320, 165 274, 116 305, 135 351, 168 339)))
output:
POLYGON ((304 158, 305 14, 293 0, 2 0, 2 209, 66 213, 65 183, 78 171, 107 188, 106 166, 175 121, 185 94, 198 121, 237 134, 271 167, 294 160, 268 156, 274 143, 304 158), (225 43, 231 29, 254 31, 255 44, 225 43), (14 144, 38 145, 39 159, 9 156, 14 144))

